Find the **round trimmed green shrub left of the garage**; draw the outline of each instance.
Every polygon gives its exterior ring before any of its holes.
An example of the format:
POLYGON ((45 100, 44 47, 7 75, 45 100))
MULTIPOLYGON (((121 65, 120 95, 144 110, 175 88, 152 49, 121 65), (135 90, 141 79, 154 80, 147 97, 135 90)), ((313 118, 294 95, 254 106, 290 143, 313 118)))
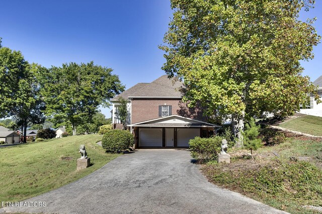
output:
POLYGON ((102 146, 109 152, 118 152, 133 146, 134 137, 126 130, 112 129, 108 130, 102 139, 102 146))

